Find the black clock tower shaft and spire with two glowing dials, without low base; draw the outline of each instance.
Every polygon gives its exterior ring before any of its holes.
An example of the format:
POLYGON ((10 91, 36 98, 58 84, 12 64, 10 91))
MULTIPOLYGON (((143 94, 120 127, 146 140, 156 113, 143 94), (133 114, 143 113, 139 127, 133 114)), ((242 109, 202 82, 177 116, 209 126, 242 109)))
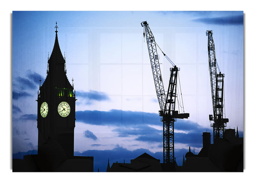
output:
POLYGON ((64 149, 68 158, 74 155, 76 96, 67 79, 66 61, 58 43, 56 22, 55 43, 48 58, 47 77, 38 92, 38 155, 40 146, 49 138, 64 149))

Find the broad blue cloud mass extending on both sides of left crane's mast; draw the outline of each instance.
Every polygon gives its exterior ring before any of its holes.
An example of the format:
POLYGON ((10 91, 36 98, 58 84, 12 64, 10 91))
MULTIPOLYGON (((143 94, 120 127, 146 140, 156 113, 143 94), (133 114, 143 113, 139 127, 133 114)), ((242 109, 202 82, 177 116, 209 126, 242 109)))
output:
MULTIPOLYGON (((160 117, 156 113, 144 113, 137 111, 77 111, 77 121, 94 125, 108 125, 116 127, 113 132, 117 132, 119 137, 132 137, 134 140, 143 142, 163 142, 163 130, 157 130, 148 125, 162 127, 160 117)), ((189 120, 180 120, 174 124, 175 130, 185 132, 175 132, 175 143, 189 144, 190 146, 202 146, 202 134, 210 128, 205 128, 189 120)))

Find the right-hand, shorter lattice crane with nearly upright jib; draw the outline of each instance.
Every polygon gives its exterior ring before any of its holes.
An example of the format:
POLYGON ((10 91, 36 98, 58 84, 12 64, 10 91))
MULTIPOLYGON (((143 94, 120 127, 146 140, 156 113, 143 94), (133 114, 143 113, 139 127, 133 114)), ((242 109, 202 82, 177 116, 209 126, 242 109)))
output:
POLYGON ((208 36, 208 57, 209 57, 209 72, 212 90, 212 108, 213 116, 209 115, 209 120, 213 121, 213 143, 218 139, 223 138, 225 127, 227 126, 228 118, 223 118, 224 108, 224 73, 221 73, 218 63, 215 58, 215 46, 212 38, 212 31, 206 31, 208 36), (217 68, 219 73, 217 73, 217 68))

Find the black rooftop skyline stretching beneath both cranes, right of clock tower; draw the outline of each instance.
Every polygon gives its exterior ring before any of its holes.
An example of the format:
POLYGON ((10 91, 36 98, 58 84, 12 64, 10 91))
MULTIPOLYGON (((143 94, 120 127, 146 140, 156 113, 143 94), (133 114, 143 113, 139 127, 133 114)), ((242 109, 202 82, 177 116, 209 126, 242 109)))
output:
POLYGON ((210 132, 203 132, 203 148, 195 155, 189 152, 183 155, 182 166, 175 160, 172 164, 160 163, 160 160, 144 153, 131 160, 131 163, 113 163, 109 160, 107 172, 243 172, 243 138, 239 138, 238 129, 226 129, 224 138, 211 144, 210 132), (186 158, 186 160, 185 160, 186 158))

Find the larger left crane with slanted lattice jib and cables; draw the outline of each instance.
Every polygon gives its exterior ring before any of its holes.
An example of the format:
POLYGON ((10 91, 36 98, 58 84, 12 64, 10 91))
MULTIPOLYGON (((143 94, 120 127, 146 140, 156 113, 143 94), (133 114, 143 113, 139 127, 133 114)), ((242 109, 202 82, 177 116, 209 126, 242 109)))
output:
MULTIPOLYGON (((173 68, 170 68, 170 80, 166 94, 163 87, 159 56, 157 54, 158 45, 155 42, 154 36, 148 26, 147 21, 142 22, 141 26, 144 27, 145 30, 143 35, 144 37, 146 36, 149 59, 157 92, 157 99, 160 105, 160 121, 163 121, 163 162, 172 163, 172 165, 174 165, 174 122, 177 120, 177 118, 183 119, 189 117, 189 113, 179 113, 178 111, 175 111, 177 98, 177 76, 179 68, 177 68, 176 65, 168 58, 168 56, 166 56, 166 54, 160 49, 166 59, 173 66, 173 68)), ((183 102, 181 108, 183 108, 183 102)))

